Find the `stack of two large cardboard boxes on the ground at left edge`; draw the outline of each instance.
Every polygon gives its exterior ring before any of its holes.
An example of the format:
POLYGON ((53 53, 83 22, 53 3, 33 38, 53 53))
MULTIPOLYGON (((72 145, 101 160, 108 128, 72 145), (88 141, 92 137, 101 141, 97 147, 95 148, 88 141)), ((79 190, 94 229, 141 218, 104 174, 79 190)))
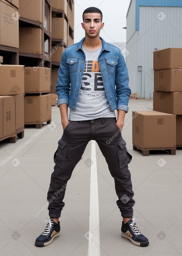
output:
POLYGON ((0 65, 0 141, 24 137, 24 66, 0 65))

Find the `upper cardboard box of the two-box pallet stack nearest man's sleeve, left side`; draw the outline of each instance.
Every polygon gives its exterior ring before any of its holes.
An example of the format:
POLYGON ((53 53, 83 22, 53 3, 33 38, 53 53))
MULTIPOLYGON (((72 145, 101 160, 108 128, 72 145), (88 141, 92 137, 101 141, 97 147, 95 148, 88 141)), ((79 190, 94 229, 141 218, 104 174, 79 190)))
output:
POLYGON ((25 93, 27 92, 50 92, 48 67, 25 67, 25 93))

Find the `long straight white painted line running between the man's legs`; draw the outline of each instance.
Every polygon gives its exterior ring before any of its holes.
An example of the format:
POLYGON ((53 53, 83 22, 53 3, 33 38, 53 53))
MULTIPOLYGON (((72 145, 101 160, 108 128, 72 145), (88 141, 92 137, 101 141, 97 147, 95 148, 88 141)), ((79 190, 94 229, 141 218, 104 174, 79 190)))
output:
POLYGON ((89 222, 89 253, 88 256, 100 256, 99 209, 96 142, 91 141, 91 177, 90 177, 90 222, 89 222))

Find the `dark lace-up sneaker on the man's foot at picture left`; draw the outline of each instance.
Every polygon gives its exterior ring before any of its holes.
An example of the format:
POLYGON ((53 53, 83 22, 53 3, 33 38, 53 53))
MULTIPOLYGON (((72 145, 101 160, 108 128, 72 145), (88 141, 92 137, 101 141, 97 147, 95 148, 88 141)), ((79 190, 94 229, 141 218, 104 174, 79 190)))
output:
MULTIPOLYGON (((47 219, 47 218, 46 218, 47 219)), ((44 223, 46 223, 44 221, 44 223)), ((52 218, 48 219, 44 232, 37 237, 35 241, 36 246, 50 245, 55 237, 60 236, 60 222, 58 224, 52 218)))

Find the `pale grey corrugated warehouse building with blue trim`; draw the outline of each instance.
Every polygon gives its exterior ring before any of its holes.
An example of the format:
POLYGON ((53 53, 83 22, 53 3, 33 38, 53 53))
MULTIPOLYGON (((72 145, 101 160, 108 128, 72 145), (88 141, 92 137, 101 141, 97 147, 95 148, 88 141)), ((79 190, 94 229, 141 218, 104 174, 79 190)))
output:
POLYGON ((152 98, 153 52, 182 47, 182 1, 131 0, 127 13, 129 86, 138 97, 152 98))

